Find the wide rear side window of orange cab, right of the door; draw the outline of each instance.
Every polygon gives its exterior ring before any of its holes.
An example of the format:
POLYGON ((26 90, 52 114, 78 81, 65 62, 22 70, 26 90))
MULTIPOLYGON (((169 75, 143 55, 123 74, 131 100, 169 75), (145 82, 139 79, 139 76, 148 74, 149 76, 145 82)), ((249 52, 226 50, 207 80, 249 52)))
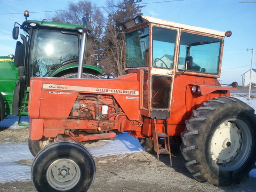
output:
POLYGON ((178 69, 218 74, 221 43, 221 39, 181 32, 178 69))

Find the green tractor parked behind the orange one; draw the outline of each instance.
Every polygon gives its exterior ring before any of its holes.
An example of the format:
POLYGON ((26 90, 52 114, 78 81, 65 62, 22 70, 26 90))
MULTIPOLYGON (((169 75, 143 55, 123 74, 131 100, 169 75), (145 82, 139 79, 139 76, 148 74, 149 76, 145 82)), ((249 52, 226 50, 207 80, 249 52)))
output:
MULTIPOLYGON (((46 21, 27 20, 15 23, 13 39, 17 40, 19 29, 23 42, 16 42, 15 56, 0 56, 0 121, 7 115, 27 115, 29 83, 32 76, 76 78, 82 26, 46 21), (19 25, 19 26, 16 26, 19 25)), ((99 78, 102 70, 96 66, 83 65, 82 78, 99 78)), ((20 124, 22 125, 22 124, 20 124)))

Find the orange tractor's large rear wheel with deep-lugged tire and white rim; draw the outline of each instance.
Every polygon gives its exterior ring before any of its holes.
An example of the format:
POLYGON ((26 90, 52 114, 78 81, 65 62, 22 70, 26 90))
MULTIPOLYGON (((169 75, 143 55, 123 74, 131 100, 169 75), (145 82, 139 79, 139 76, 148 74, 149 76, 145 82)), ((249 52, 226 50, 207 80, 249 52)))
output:
POLYGON ((256 161, 254 109, 239 99, 220 97, 193 111, 181 134, 185 166, 200 182, 239 182, 256 161))

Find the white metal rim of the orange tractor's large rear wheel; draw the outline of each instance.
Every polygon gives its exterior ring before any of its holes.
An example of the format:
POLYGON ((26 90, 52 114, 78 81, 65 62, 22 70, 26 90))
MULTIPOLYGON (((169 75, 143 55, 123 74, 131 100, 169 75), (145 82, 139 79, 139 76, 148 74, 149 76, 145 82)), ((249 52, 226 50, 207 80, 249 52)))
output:
POLYGON ((221 170, 234 171, 247 160, 251 144, 251 132, 244 121, 238 119, 224 121, 211 137, 211 158, 221 170))

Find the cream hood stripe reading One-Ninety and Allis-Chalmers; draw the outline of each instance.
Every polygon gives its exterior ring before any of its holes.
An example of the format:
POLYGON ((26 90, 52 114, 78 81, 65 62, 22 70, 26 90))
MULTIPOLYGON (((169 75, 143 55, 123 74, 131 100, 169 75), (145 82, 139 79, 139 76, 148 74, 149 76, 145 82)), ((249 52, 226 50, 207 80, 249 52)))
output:
POLYGON ((53 89, 53 90, 66 90, 66 91, 139 95, 139 91, 136 91, 136 90, 125 90, 125 89, 116 89, 116 88, 90 88, 90 87, 82 87, 82 86, 56 85, 56 84, 43 84, 43 88, 53 89))

